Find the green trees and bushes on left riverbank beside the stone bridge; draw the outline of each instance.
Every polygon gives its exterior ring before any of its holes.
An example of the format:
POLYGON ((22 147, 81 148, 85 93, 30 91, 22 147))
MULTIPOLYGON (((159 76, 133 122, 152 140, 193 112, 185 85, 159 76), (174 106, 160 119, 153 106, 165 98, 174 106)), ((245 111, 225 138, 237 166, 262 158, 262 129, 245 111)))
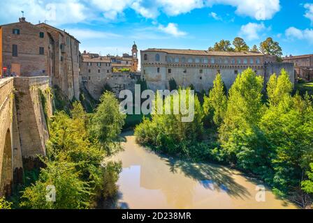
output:
MULTIPOLYGON (((94 208, 99 201, 115 196, 122 164, 105 161, 121 147, 119 134, 124 114, 115 95, 105 92, 94 114, 73 102, 70 114, 58 111, 49 125, 44 168, 25 185, 19 199, 22 208, 94 208), (55 201, 47 194, 55 192, 55 201)), ((8 203, 1 201, 1 206, 8 203)), ((10 206, 8 206, 10 207, 10 206)))

